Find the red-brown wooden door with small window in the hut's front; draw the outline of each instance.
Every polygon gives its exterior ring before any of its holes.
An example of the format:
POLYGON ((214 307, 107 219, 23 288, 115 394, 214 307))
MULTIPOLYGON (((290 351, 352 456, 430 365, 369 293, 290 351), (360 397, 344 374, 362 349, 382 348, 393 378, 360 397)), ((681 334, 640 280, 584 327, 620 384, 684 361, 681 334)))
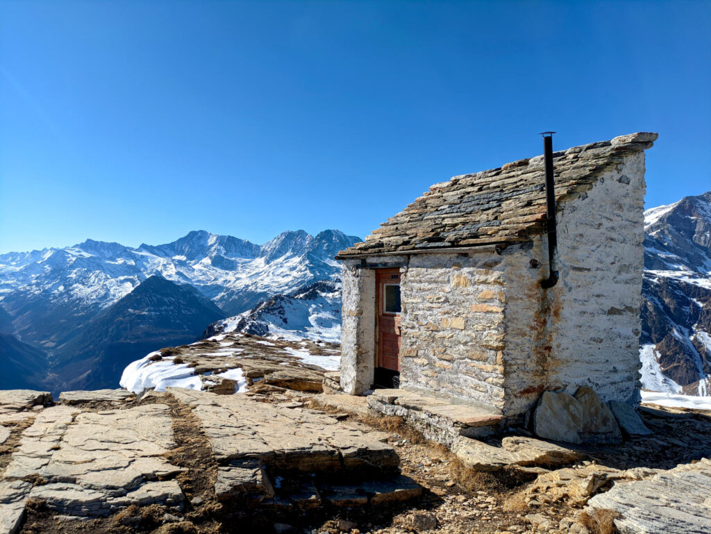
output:
POLYGON ((400 269, 378 269, 376 365, 400 372, 400 269))

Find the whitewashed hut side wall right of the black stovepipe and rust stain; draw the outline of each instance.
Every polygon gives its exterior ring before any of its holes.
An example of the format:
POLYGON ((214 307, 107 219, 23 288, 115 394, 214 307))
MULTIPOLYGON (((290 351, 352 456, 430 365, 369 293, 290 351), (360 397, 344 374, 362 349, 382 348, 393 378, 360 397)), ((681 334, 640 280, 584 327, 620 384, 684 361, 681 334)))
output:
POLYGON ((553 288, 552 383, 589 385, 604 400, 638 400, 644 153, 560 204, 560 282, 553 288))

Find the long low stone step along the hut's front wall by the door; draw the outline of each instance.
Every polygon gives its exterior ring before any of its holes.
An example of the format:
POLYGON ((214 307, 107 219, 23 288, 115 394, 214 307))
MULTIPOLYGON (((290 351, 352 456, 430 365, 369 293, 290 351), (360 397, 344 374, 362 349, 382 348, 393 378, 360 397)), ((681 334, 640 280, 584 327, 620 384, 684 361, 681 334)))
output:
POLYGON ((444 399, 405 389, 375 390, 368 407, 385 415, 397 415, 424 437, 451 447, 459 436, 485 437, 500 429, 501 410, 491 405, 444 399))

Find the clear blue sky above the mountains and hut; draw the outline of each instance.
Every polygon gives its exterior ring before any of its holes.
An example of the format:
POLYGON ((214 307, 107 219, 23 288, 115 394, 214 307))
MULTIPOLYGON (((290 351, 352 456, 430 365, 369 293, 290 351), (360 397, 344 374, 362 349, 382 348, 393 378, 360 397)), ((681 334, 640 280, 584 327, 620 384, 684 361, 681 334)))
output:
POLYGON ((711 2, 0 3, 0 251, 365 236, 547 129, 711 189, 711 2))

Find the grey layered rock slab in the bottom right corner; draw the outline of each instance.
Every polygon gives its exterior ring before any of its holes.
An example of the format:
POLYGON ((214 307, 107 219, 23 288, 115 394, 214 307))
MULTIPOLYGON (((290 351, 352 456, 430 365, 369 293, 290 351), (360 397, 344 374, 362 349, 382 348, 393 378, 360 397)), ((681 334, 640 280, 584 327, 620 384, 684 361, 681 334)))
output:
POLYGON ((649 480, 617 483, 588 505, 618 513, 615 525, 622 534, 710 533, 711 461, 681 465, 649 480))

